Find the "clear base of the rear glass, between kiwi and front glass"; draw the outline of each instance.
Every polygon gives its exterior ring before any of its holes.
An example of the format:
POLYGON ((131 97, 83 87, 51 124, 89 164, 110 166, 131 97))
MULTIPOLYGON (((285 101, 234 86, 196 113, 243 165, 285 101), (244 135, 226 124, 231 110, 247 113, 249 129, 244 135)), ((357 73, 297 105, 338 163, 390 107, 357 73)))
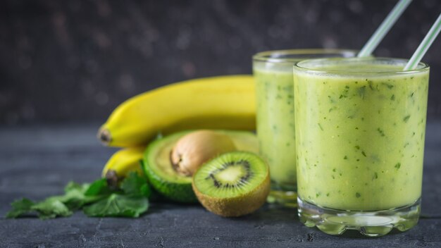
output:
POLYGON ((266 202, 295 208, 297 207, 297 189, 291 185, 283 186, 271 182, 271 191, 266 202))

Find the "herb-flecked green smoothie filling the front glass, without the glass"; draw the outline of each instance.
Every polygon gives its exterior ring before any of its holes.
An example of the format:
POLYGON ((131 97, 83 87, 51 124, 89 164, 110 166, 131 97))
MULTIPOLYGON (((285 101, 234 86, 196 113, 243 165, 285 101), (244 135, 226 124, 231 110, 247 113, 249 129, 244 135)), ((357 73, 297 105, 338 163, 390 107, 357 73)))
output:
POLYGON ((302 130, 296 136, 300 198, 335 192, 308 201, 331 209, 375 211, 421 197, 428 71, 411 77, 296 71, 294 82, 295 124, 302 130), (305 159, 320 166, 308 167, 305 159))

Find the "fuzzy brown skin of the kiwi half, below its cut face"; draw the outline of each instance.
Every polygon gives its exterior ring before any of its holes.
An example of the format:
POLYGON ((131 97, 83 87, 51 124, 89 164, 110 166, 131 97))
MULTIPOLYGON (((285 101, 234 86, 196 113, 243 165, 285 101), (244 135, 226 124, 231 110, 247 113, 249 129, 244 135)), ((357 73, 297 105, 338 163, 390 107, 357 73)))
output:
POLYGON ((194 178, 195 177, 193 177, 192 180, 192 187, 199 202, 208 211, 223 217, 244 216, 245 214, 256 211, 266 202, 266 197, 268 197, 270 192, 269 169, 267 170, 265 179, 261 185, 259 185, 259 187, 256 187, 247 194, 242 194, 238 197, 231 198, 216 198, 202 194, 194 185, 194 178))

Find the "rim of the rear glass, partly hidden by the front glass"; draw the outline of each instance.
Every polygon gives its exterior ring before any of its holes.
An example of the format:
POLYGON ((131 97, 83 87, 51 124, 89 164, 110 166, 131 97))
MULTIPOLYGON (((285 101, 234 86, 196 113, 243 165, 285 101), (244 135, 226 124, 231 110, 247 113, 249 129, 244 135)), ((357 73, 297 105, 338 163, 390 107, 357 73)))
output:
POLYGON ((261 51, 254 54, 253 61, 270 62, 270 63, 296 63, 299 60, 308 59, 308 55, 317 56, 323 55, 342 55, 343 57, 353 57, 358 54, 359 50, 355 49, 285 49, 285 50, 270 50, 261 51), (283 57, 281 56, 288 56, 283 57), (290 58, 289 56, 292 56, 290 58), (297 56, 297 57, 296 57, 297 56), (303 56, 303 57, 302 57, 303 56))

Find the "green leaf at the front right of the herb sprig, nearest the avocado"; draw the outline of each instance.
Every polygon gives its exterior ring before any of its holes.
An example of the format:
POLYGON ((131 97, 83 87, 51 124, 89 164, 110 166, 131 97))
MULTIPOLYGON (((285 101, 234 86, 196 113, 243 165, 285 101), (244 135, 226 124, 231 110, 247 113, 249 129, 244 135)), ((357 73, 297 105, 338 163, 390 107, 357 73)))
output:
POLYGON ((99 202, 85 206, 84 213, 92 217, 139 217, 149 209, 149 200, 143 196, 111 194, 99 202))

